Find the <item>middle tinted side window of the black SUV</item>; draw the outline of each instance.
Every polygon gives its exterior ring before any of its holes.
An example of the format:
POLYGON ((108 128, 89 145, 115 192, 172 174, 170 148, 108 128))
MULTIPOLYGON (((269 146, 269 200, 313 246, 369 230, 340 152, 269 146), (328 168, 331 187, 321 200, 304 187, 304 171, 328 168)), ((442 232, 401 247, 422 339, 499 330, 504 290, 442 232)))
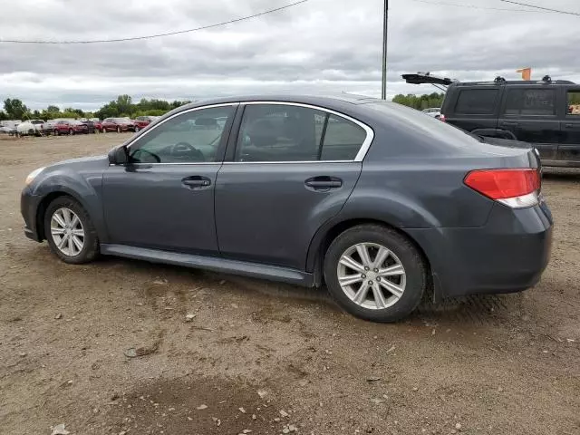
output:
POLYGON ((556 89, 509 89, 505 114, 556 115, 556 89))

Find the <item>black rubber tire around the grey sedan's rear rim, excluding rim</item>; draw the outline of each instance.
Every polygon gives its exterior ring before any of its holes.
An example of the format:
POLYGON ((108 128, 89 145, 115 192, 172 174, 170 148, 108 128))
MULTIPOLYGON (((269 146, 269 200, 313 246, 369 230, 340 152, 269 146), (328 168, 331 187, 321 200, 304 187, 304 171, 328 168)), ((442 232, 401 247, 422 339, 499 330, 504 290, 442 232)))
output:
POLYGON ((411 241, 391 228, 372 224, 349 228, 333 240, 324 256, 324 280, 328 291, 344 310, 373 322, 396 322, 411 314, 420 303, 428 283, 425 260, 411 241), (387 308, 372 309, 356 304, 339 284, 337 267, 341 256, 360 243, 386 247, 398 257, 404 267, 404 291, 400 299, 387 308))

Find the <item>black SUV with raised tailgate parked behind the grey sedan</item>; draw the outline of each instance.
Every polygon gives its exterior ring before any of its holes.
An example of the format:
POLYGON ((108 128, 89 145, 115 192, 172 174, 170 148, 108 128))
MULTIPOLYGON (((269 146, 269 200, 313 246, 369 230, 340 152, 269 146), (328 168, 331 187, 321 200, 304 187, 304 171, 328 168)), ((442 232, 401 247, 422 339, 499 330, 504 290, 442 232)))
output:
POLYGON ((580 85, 563 80, 455 82, 429 73, 406 82, 447 86, 441 121, 500 139, 532 144, 545 166, 580 167, 580 85))

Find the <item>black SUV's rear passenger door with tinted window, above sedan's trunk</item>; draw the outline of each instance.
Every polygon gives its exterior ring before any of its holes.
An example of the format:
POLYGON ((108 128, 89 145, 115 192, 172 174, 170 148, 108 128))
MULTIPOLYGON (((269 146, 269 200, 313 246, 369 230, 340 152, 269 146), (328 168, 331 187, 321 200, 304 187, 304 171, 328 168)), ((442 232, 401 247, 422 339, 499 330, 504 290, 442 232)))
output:
POLYGON ((531 143, 542 160, 554 160, 560 140, 556 100, 555 86, 507 86, 498 128, 511 131, 517 140, 531 143))

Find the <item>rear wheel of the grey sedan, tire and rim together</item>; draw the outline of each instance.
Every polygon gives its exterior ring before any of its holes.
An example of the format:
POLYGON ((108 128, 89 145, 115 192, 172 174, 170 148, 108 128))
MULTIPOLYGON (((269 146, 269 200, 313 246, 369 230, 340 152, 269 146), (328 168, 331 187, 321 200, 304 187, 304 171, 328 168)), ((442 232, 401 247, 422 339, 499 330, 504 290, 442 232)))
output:
POLYGON ((427 266, 411 241, 395 230, 361 225, 333 240, 324 256, 329 292, 346 311, 374 322, 411 314, 427 287, 427 266))

